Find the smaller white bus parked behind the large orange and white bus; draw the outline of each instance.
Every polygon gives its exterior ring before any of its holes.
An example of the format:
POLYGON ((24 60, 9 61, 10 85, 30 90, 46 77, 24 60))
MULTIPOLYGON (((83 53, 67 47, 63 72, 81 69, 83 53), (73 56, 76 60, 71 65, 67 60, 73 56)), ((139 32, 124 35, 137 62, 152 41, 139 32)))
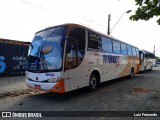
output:
POLYGON ((146 50, 139 50, 140 55, 140 71, 152 70, 155 66, 155 54, 146 50))

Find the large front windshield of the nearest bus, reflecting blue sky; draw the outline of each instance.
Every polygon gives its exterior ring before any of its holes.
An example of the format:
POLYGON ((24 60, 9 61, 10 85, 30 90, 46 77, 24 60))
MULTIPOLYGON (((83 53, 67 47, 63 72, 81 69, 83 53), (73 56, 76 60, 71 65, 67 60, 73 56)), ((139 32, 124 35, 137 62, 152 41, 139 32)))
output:
POLYGON ((55 27, 35 34, 28 53, 28 71, 62 69, 63 40, 66 27, 55 27))

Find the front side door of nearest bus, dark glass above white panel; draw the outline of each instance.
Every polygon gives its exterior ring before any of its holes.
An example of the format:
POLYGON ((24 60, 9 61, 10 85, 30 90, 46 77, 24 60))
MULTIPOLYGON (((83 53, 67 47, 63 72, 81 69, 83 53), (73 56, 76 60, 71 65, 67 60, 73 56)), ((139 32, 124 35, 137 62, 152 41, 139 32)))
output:
POLYGON ((82 64, 85 55, 85 29, 71 27, 66 41, 64 74, 69 80, 69 89, 88 85, 86 68, 82 64))

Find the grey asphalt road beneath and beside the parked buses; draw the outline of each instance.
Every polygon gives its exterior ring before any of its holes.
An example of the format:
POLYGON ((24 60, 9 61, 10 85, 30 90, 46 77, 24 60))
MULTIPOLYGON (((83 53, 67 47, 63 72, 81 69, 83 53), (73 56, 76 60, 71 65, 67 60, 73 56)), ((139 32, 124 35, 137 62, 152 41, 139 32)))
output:
MULTIPOLYGON (((100 88, 93 92, 82 88, 66 94, 31 93, 16 97, 8 96, 0 99, 0 111, 124 111, 124 113, 125 111, 160 111, 160 69, 155 68, 137 74, 131 79, 126 77, 102 83, 100 88)), ((70 120, 71 118, 75 119, 75 117, 48 117, 47 119, 70 120)), ((83 117, 83 119, 106 120, 105 117, 99 116, 83 117)), ((134 116, 108 119, 160 120, 158 117, 134 116)), ((82 118, 76 117, 76 120, 82 118)))

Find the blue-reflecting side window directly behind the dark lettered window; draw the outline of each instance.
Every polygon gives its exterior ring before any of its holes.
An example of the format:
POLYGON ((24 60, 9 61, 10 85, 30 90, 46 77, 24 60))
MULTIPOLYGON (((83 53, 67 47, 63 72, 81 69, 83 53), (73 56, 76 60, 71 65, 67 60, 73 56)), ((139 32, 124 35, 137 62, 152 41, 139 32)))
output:
POLYGON ((106 37, 102 37, 102 49, 105 52, 112 52, 112 41, 106 37))

